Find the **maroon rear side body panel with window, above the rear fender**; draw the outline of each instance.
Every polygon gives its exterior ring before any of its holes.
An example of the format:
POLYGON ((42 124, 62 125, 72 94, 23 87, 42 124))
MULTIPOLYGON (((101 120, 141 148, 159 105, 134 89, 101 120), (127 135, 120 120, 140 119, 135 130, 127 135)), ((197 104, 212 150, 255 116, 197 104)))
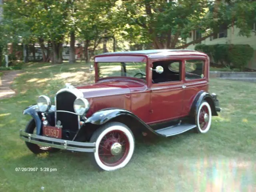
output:
POLYGON ((190 58, 184 61, 184 115, 189 114, 196 94, 201 90, 208 91, 208 66, 205 58, 190 58))

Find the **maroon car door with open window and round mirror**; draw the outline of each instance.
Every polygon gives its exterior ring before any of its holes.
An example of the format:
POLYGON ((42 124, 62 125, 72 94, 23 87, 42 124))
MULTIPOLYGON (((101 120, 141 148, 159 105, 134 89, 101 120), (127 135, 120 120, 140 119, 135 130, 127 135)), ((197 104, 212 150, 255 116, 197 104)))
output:
POLYGON ((183 105, 182 60, 153 62, 152 80, 150 123, 180 117, 183 105), (162 66, 164 72, 158 74, 156 66, 162 66))

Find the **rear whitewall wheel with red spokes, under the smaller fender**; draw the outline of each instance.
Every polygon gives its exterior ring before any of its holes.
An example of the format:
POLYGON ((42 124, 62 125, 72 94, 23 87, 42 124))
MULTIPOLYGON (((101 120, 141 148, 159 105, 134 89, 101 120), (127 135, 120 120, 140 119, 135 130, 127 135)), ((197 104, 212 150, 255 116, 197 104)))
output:
POLYGON ((196 131, 198 133, 206 133, 210 129, 212 123, 212 110, 208 102, 203 101, 196 115, 196 131))

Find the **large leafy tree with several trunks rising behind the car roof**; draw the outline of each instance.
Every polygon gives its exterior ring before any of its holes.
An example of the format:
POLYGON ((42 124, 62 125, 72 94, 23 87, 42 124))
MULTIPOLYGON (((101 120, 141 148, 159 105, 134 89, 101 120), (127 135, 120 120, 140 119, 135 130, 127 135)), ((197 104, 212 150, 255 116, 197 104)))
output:
POLYGON ((123 0, 117 14, 121 23, 128 24, 127 31, 138 30, 135 34, 148 37, 157 49, 177 48, 180 38, 185 40, 192 30, 204 33, 202 38, 178 47, 184 48, 208 38, 224 24, 237 25, 241 35, 248 35, 249 24, 255 18, 255 2, 123 0))

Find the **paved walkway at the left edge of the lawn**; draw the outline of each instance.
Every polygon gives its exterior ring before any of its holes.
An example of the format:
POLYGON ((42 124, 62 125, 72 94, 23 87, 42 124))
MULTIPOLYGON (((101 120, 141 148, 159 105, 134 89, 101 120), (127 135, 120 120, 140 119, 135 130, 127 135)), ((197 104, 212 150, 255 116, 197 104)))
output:
POLYGON ((0 100, 10 98, 15 95, 15 91, 10 88, 14 78, 18 76, 21 71, 5 71, 4 76, 0 78, 0 100))

